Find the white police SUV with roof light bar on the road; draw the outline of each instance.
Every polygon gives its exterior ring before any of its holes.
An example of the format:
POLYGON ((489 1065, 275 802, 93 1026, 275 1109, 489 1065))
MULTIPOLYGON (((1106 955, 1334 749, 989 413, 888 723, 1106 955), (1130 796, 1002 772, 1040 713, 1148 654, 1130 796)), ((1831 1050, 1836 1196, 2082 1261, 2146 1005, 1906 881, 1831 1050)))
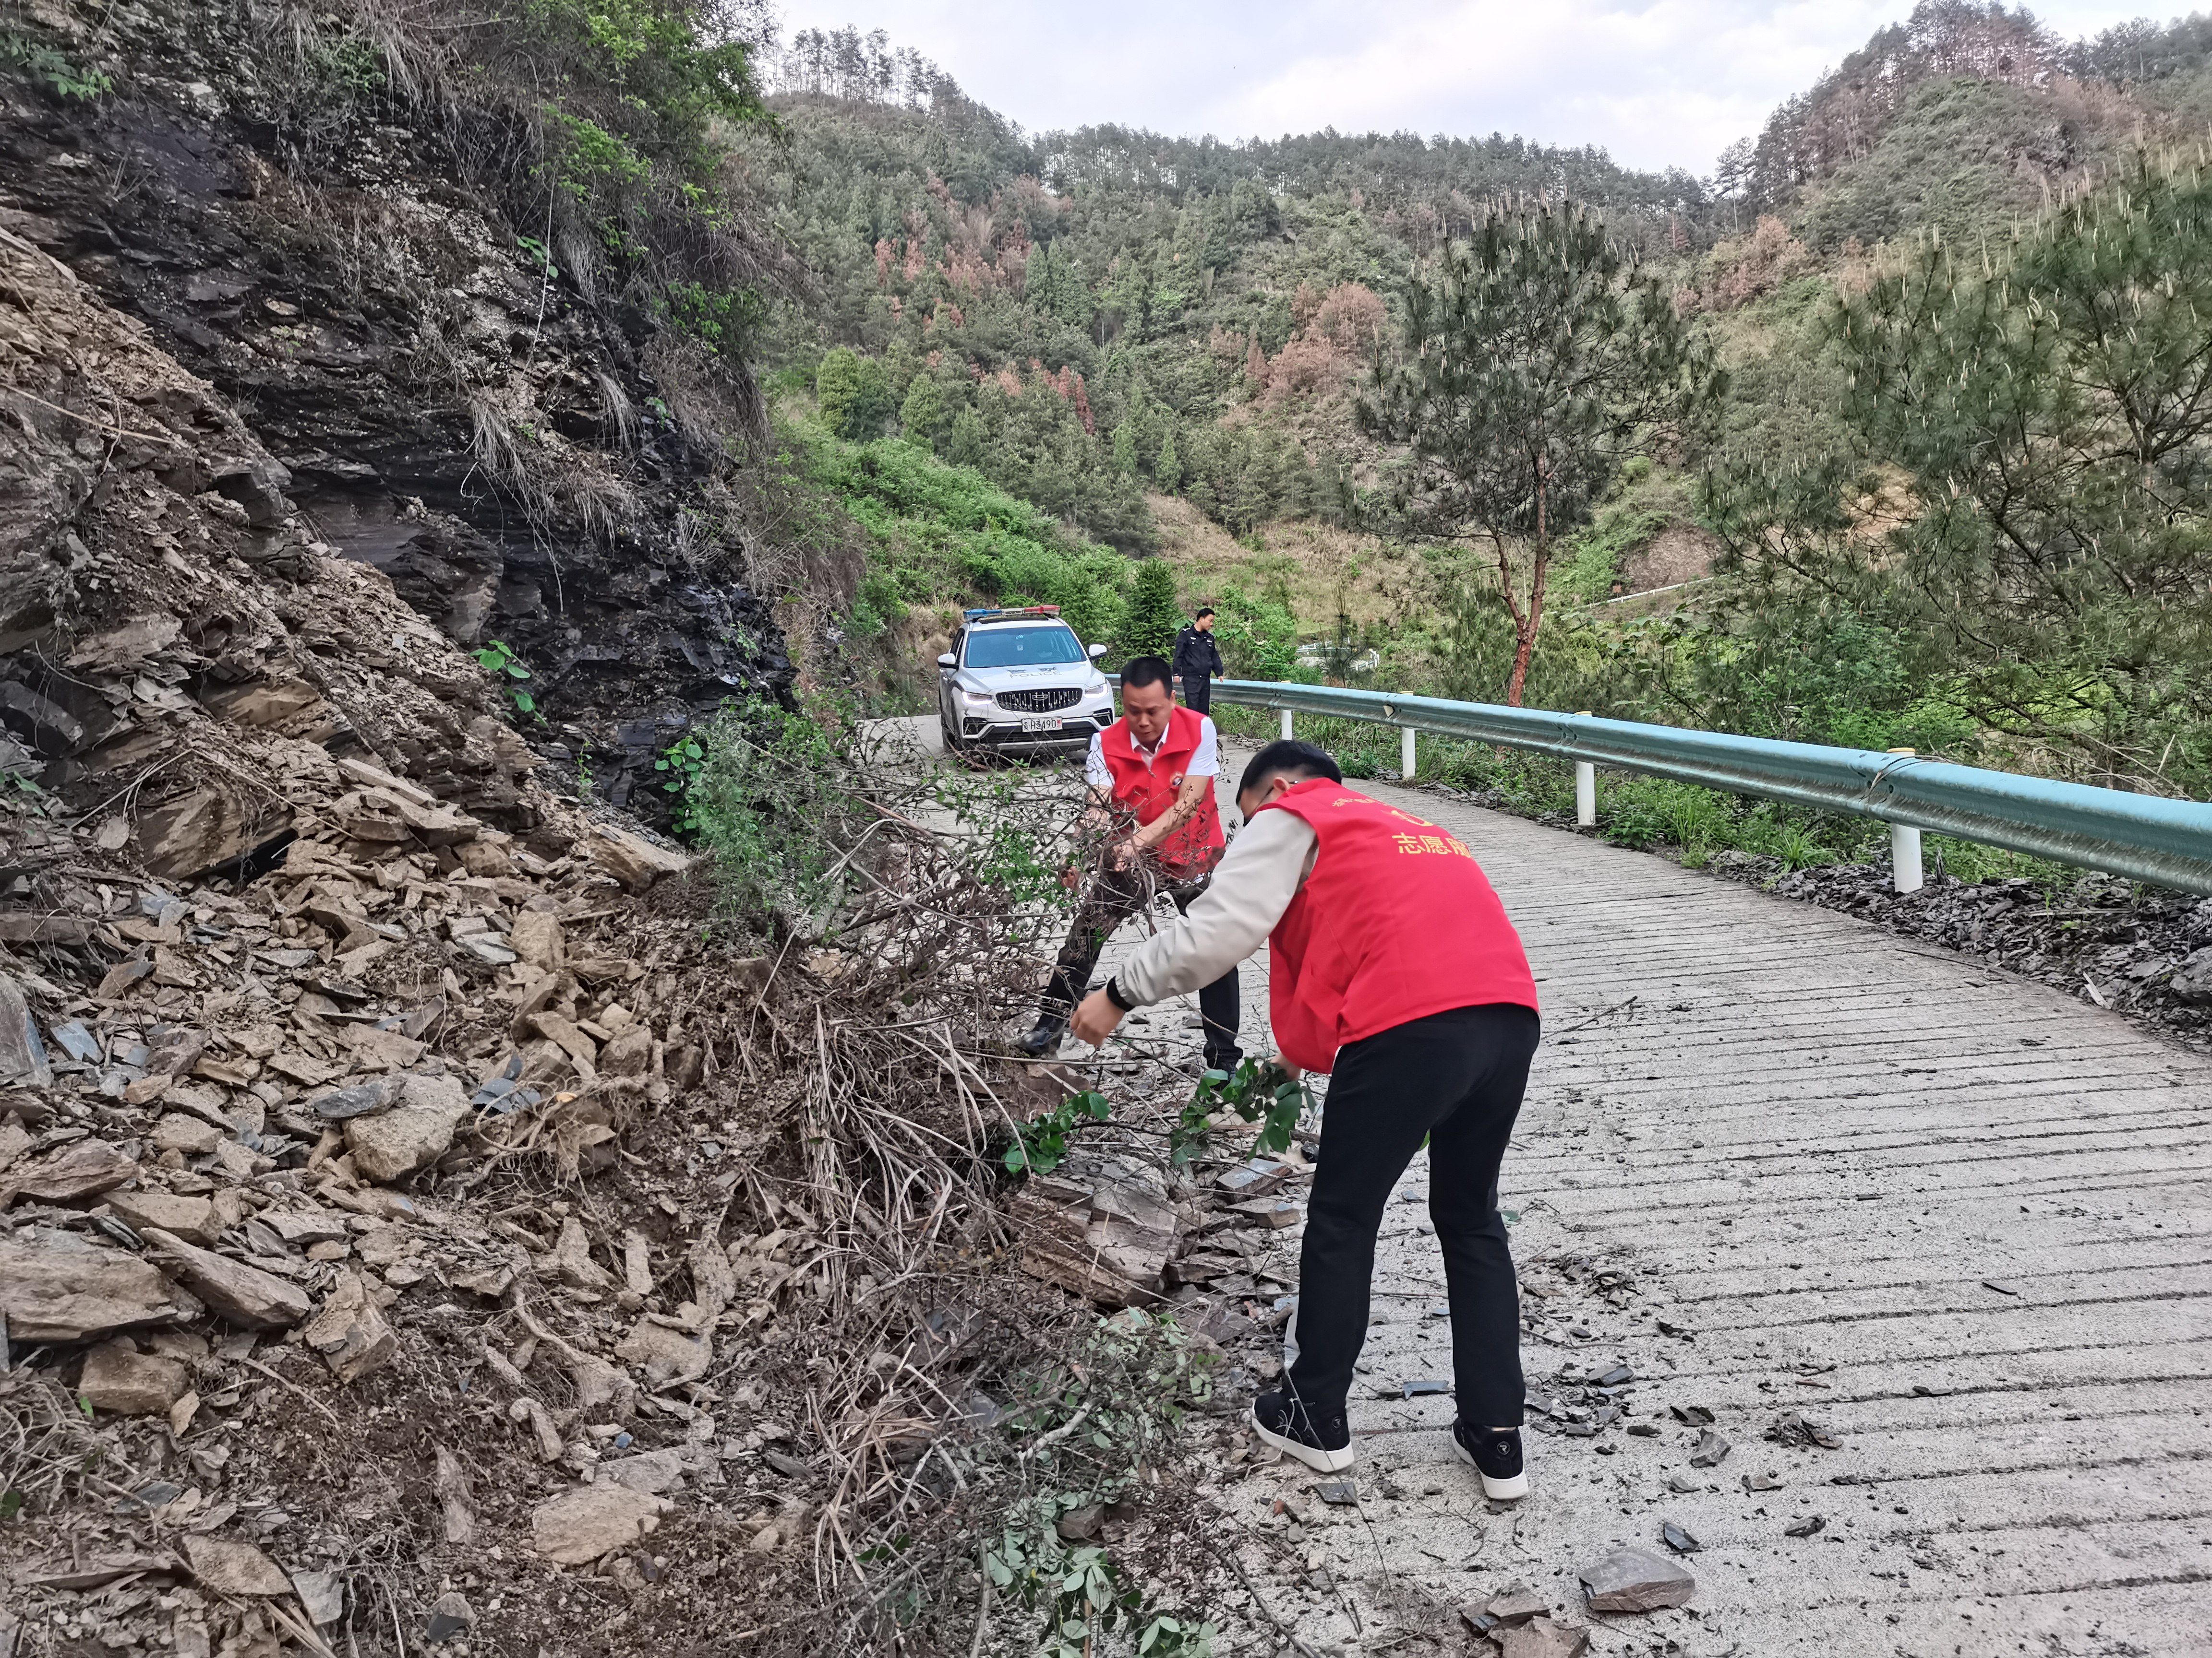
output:
POLYGON ((969 610, 953 648, 938 657, 938 723, 945 749, 1082 754, 1113 723, 1113 688, 1060 606, 969 610))

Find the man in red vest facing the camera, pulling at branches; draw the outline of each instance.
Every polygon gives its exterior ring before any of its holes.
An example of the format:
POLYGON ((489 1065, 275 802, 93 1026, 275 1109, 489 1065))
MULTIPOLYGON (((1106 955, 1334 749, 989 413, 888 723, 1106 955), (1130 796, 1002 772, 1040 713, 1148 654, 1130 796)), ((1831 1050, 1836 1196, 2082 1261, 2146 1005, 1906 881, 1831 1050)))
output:
MULTIPOLYGON (((1121 718, 1091 738, 1084 767, 1097 825, 1119 833, 1060 948, 1037 1026, 1015 1043, 1022 1052, 1046 1054, 1060 1046, 1106 940, 1155 891, 1166 889, 1179 911, 1206 891, 1223 849, 1214 807, 1219 772, 1214 723, 1175 705, 1172 670, 1161 657, 1130 657, 1121 668, 1121 718)), ((1190 988, 1199 993, 1206 1021, 1206 1068, 1237 1070, 1243 1057, 1237 1048, 1237 964, 1190 988)))

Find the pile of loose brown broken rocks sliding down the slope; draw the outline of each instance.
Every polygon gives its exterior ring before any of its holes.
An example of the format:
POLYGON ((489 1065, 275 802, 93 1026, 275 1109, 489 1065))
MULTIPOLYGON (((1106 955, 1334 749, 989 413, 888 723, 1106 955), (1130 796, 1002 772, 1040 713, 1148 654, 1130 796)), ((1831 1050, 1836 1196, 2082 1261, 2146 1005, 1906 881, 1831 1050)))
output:
POLYGON ((768 964, 144 329, 7 232, 0 294, 0 1651, 772 1603, 830 1251, 714 1068, 768 964))

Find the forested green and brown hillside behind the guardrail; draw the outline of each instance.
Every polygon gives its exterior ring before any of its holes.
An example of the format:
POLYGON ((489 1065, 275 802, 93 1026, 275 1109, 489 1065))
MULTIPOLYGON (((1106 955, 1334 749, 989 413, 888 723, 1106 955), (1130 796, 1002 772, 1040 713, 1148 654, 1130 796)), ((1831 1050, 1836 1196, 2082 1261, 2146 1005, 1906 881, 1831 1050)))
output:
MULTIPOLYGON (((1500 696, 1515 654, 1502 592, 1526 586, 1526 553, 1506 553, 1522 575, 1502 579, 1495 550, 1391 517, 1405 451, 1358 405, 1405 349, 1409 281, 1447 243, 1491 214, 1577 203, 1624 254, 1621 281, 1657 283, 1728 380, 1694 429, 1626 458, 1555 524, 1531 701, 2181 787, 2197 763, 2174 721, 2201 714, 2203 679, 2170 654, 2170 617, 2203 606, 2194 555, 2174 553, 2163 597, 2141 599, 2168 617, 2148 628, 2115 619, 2137 601, 2128 577, 2057 575, 2070 555, 2051 548, 1938 592, 1920 564, 1929 480, 1889 413, 1849 396, 1867 367, 1849 316, 1898 283, 1949 303, 1971 276, 2006 307, 1993 327, 2039 332, 2035 367, 2055 371, 2073 347, 2004 270, 2066 265, 2106 214, 2141 221, 2150 179, 2179 179, 2159 186, 2179 241, 2104 270, 2093 281, 2119 287, 2084 294, 2084 316, 2135 283, 2188 281, 2208 57, 2201 20, 2068 42, 2026 11, 1931 2, 1699 179, 1509 137, 1024 135, 914 51, 807 33, 770 99, 783 137, 752 148, 821 285, 770 325, 770 385, 834 489, 889 464, 876 444, 911 444, 1031 502, 1075 546, 1166 550, 1188 568, 1186 601, 1223 606, 1245 670, 1303 639, 1312 672, 1374 661, 1374 683, 1500 696), (1188 504, 1172 546, 1168 497, 1188 504), (1219 531, 1203 559, 1188 511, 1219 531), (2106 623, 2059 639, 2026 621, 2039 606, 2106 623), (2002 626, 1975 621, 1991 617, 2002 626)), ((1949 349, 1920 325, 1909 351, 1949 349)), ((2077 484, 2110 460, 2075 424, 2053 440, 2077 484)), ((2177 442, 2194 453, 2192 433, 2177 442)), ((2170 553, 2197 508, 2168 506, 2170 553)), ((911 555, 911 531, 874 537, 872 617, 905 608, 920 626, 971 595, 1104 617, 1128 568, 1082 555, 993 586, 971 562, 956 590, 942 562, 911 555)))

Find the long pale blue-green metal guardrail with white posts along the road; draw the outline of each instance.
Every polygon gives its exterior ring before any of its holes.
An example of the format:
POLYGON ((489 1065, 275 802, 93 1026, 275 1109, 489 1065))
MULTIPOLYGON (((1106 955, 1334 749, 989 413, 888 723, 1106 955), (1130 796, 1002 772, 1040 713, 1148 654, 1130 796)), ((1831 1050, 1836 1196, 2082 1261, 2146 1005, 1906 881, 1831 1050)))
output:
POLYGON ((1874 818, 1891 827, 1898 891, 1920 886, 1920 831, 1933 829, 2212 895, 2212 805, 2201 800, 1989 772, 1909 752, 1783 743, 1438 696, 1250 679, 1214 681, 1212 690, 1221 703, 1281 710, 1285 736, 1294 714, 1396 725, 1405 734, 1407 778, 1416 774, 1416 732, 1555 754, 1575 763, 1577 818, 1584 825, 1597 820, 1599 765, 1874 818))

